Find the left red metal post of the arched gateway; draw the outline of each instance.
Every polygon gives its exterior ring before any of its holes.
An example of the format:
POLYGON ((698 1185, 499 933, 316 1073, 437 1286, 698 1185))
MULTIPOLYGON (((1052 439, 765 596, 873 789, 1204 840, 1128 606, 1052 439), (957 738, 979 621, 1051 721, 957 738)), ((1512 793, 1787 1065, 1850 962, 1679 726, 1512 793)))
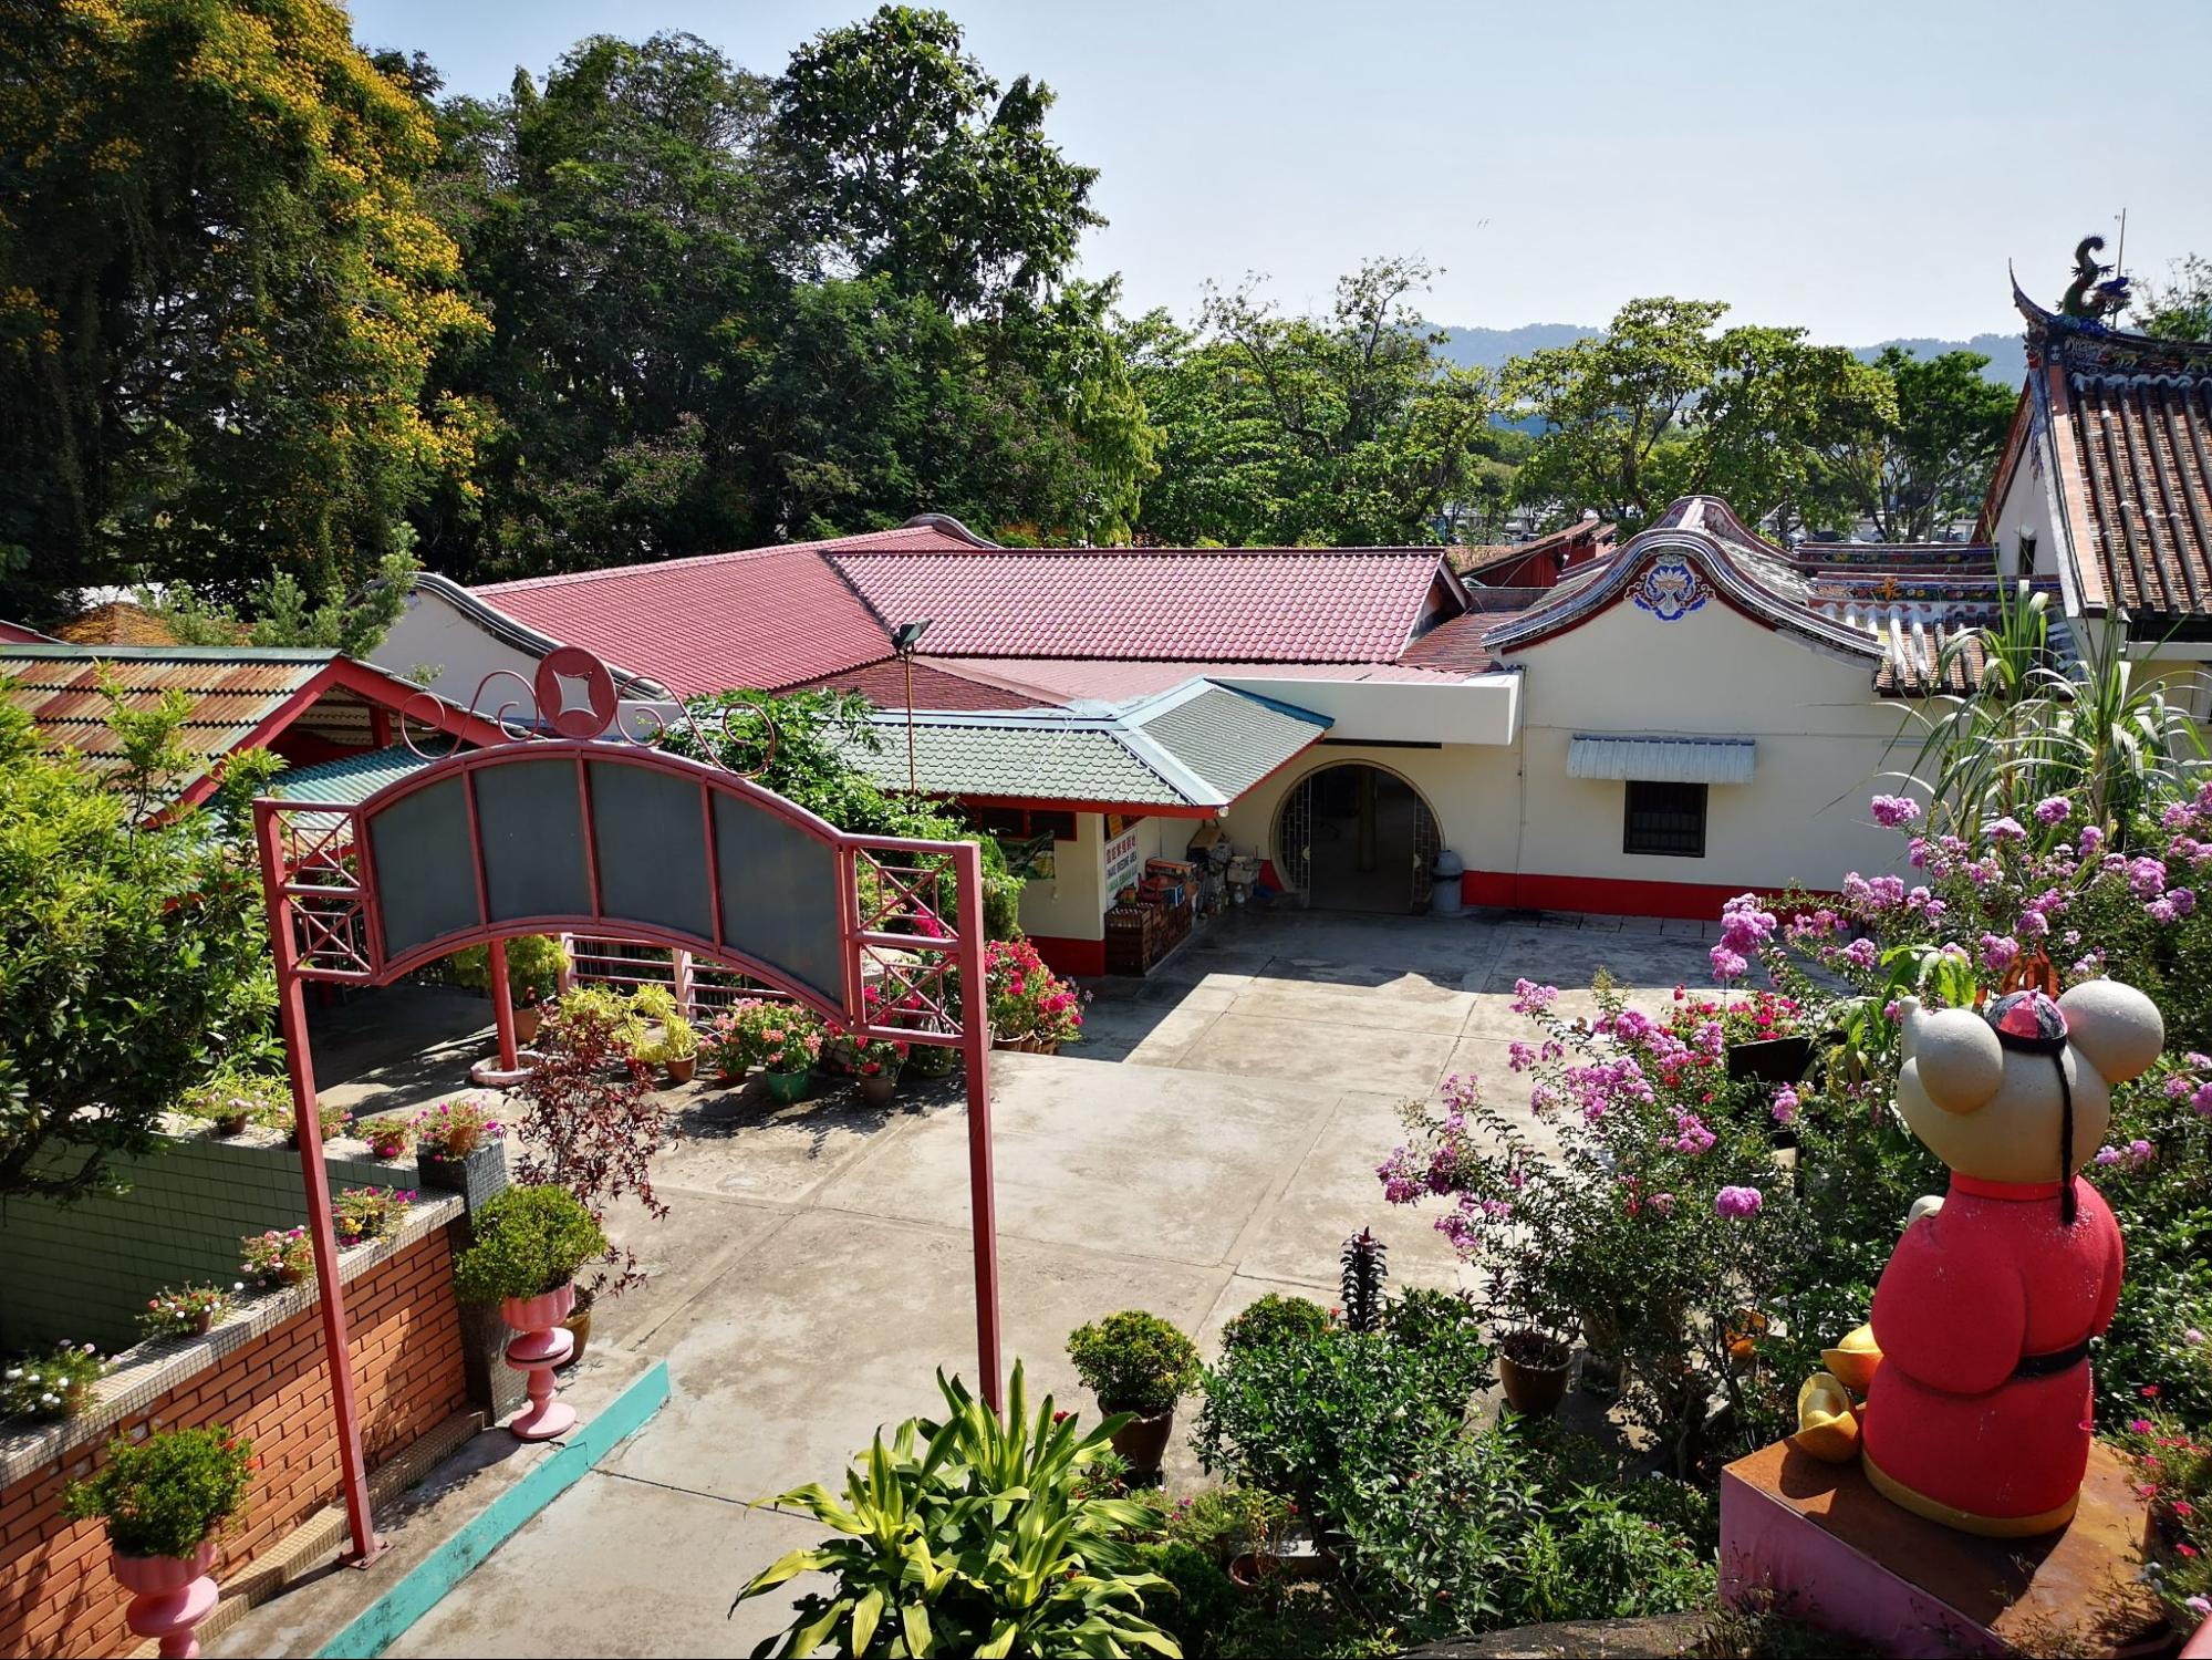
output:
POLYGON ((254 839, 261 843, 261 894, 268 901, 270 952, 276 958, 276 1014, 283 1025, 285 1067, 292 1073, 301 1182, 307 1189, 314 1288, 323 1304, 323 1359, 330 1366, 330 1412, 338 1432, 338 1479, 345 1485, 345 1525, 354 1536, 354 1549, 343 1560, 367 1567, 383 1543, 369 1516, 369 1467, 361 1456, 361 1408, 354 1401, 354 1361, 345 1341, 345 1288, 338 1284, 338 1242, 330 1226, 330 1175, 323 1169, 314 1056, 307 1051, 307 1000, 301 994, 299 941, 292 932, 292 894, 285 890, 288 872, 274 801, 254 801, 254 839))

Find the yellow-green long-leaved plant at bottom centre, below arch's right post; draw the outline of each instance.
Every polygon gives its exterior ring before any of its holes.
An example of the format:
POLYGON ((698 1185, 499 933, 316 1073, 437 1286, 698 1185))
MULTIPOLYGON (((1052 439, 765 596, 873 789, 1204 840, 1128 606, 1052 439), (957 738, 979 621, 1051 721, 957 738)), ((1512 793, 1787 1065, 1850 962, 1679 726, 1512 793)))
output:
MULTIPOLYGON (((1128 1656, 1181 1649, 1144 1616, 1144 1594, 1172 1589, 1135 1569, 1133 1529, 1159 1514, 1095 1490, 1091 1465, 1128 1414, 1084 1434, 1044 1397, 1035 1417, 1015 1361, 1006 1414, 938 1372, 942 1423, 907 1419, 845 1474, 845 1496, 821 1483, 765 1503, 803 1509, 836 1529, 765 1567, 737 1602, 799 1574, 827 1574, 830 1594, 794 1600, 785 1631, 754 1656, 1128 1656)), ((730 1605, 732 1614, 737 1602, 730 1605)))

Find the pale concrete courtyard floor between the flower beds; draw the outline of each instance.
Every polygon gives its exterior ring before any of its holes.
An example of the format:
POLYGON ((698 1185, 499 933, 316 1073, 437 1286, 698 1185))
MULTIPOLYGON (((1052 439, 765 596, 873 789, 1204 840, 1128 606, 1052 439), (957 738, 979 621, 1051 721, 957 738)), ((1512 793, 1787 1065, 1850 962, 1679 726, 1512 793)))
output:
MULTIPOLYGON (((1427 1217, 1389 1211, 1374 1177, 1400 1140, 1400 1104, 1453 1071, 1489 1080, 1500 1104, 1524 1100, 1506 1071, 1506 1042, 1531 1031, 1509 1007, 1515 978, 1566 987, 1562 1007, 1582 1011, 1606 967, 1657 1003, 1677 983, 1710 983, 1710 932, 1237 914, 1152 978, 1099 983, 1079 1049, 993 1056, 1009 1363, 1026 1361, 1033 1399, 1088 1414, 1066 1363, 1071 1328, 1150 1308, 1210 1355, 1221 1324, 1265 1290, 1334 1301, 1336 1253, 1369 1224, 1391 1248, 1394 1286, 1451 1284, 1449 1246, 1427 1217)), ((422 1098, 442 1065, 347 1089, 376 1104, 422 1098)), ((748 1503, 841 1485, 878 1425, 936 1408, 938 1368, 973 1377, 958 1085, 885 1113, 849 1096, 774 1109, 759 1087, 672 1100, 686 1140, 657 1175, 670 1215, 617 1228, 650 1282, 599 1306, 575 1383, 591 1399, 666 1359, 668 1405, 389 1653, 750 1649, 783 1625, 787 1596, 734 1620, 730 1598, 823 1529, 748 1503)), ((1197 1479, 1181 1434, 1168 1479, 1197 1479)), ((436 1503, 465 1487, 442 1483, 436 1503)), ((294 1591, 210 1651, 312 1649, 336 1627, 314 1602, 316 1587, 294 1591)))

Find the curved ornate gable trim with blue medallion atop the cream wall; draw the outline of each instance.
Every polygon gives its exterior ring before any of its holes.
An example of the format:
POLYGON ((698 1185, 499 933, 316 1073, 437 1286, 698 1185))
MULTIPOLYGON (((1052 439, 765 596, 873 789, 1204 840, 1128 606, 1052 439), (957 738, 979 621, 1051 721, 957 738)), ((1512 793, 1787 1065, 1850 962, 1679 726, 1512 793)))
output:
POLYGON ((1869 664, 1882 660, 1876 635, 1820 615, 1812 609, 1814 598, 1814 584, 1790 558, 1747 531, 1725 502, 1686 496, 1610 560, 1491 629, 1486 646, 1513 653, 1619 604, 1650 618, 1652 626, 1721 604, 1816 651, 1869 664))

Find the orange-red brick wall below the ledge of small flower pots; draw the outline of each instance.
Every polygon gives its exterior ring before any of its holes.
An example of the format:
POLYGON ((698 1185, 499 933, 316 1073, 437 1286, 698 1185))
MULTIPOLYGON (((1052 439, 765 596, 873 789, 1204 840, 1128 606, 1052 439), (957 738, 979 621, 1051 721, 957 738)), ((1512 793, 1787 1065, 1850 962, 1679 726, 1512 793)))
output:
MULTIPOLYGON (((361 1439, 376 1467, 467 1408, 449 1226, 403 1235, 387 1257, 347 1275, 345 1306, 361 1439)), ((215 1567, 223 1580, 338 1496, 330 1368, 312 1301, 124 1412, 113 1434, 201 1423, 228 1423, 259 1459, 241 1527, 223 1538, 215 1567)), ((106 1439, 102 1432, 0 1490, 4 1656, 126 1653, 137 1642, 124 1627, 128 1598, 108 1571, 104 1525, 60 1518, 62 1490, 93 1470, 106 1439)))

